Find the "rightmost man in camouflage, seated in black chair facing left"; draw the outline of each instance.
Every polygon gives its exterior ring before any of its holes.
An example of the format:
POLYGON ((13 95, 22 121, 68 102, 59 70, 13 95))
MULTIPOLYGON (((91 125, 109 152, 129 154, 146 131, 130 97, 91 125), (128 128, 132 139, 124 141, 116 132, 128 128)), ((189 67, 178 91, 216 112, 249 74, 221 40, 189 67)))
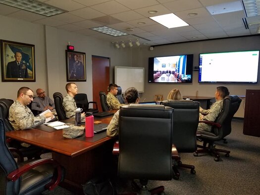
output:
MULTIPOLYGON (((215 99, 216 102, 211 105, 208 110, 200 107, 200 120, 207 120, 214 122, 218 116, 218 114, 222 110, 223 99, 229 95, 229 91, 226 87, 220 86, 216 88, 215 99)), ((199 131, 208 131, 211 132, 211 125, 206 123, 199 123, 198 130, 199 131)))

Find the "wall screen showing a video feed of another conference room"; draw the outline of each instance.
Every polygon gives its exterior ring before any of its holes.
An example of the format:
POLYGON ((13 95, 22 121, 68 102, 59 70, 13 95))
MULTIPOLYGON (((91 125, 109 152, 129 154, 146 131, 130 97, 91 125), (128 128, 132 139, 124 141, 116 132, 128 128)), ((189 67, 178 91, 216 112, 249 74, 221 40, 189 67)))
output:
POLYGON ((149 57, 149 83, 192 83, 193 54, 149 57))

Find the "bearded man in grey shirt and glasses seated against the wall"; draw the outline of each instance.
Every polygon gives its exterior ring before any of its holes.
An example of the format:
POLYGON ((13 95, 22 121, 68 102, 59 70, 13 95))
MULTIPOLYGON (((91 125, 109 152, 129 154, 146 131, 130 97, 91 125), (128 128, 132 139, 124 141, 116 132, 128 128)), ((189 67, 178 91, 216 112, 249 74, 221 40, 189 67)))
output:
POLYGON ((45 95, 45 91, 43 89, 37 89, 36 94, 38 97, 33 99, 32 110, 43 112, 45 110, 53 110, 55 108, 54 102, 50 97, 45 95))

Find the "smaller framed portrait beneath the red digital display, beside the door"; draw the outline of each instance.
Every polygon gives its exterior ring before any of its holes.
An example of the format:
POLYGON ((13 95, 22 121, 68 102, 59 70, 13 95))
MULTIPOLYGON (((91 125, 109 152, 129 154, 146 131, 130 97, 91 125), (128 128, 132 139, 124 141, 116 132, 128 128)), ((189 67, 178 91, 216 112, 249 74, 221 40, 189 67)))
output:
POLYGON ((67 82, 86 81, 86 53, 66 50, 67 82))

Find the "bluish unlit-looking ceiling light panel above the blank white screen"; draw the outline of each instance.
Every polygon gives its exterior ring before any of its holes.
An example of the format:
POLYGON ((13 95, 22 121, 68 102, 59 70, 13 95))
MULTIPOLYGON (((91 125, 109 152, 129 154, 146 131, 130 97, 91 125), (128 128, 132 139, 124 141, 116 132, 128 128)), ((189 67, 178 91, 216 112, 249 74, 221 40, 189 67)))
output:
POLYGON ((208 9, 211 15, 243 10, 241 1, 220 3, 220 4, 208 6, 206 8, 208 9))

